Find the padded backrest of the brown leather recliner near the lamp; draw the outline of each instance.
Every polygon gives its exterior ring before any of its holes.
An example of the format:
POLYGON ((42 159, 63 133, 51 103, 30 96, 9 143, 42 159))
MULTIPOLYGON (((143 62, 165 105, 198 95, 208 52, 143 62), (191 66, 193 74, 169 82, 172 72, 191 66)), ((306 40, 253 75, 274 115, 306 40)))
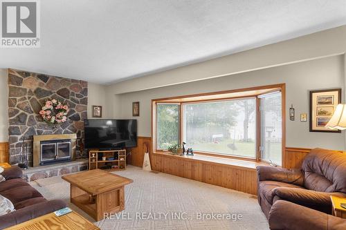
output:
POLYGON ((305 157, 302 170, 305 188, 346 193, 346 153, 315 148, 305 157))

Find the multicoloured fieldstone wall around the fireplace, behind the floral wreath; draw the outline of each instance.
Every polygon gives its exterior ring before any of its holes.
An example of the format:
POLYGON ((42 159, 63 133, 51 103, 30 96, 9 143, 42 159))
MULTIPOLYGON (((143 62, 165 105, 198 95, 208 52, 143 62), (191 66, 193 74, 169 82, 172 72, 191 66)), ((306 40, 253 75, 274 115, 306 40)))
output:
MULTIPOLYGON (((88 83, 20 70, 8 70, 8 136, 10 164, 19 162, 21 142, 28 143, 29 166, 33 162, 33 135, 76 133, 84 136, 87 118, 88 83), (47 99, 57 99, 69 105, 68 119, 60 126, 46 124, 39 111, 47 99)), ((80 143, 76 147, 80 155, 80 143)))

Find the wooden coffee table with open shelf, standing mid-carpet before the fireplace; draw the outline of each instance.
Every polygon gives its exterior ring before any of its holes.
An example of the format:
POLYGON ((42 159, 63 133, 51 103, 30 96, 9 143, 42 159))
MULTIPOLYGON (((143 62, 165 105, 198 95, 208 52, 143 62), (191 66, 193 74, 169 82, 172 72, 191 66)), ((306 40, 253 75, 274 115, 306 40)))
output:
POLYGON ((104 219, 104 213, 125 209, 124 186, 134 182, 101 169, 64 175, 62 179, 71 184, 71 203, 96 221, 104 219))

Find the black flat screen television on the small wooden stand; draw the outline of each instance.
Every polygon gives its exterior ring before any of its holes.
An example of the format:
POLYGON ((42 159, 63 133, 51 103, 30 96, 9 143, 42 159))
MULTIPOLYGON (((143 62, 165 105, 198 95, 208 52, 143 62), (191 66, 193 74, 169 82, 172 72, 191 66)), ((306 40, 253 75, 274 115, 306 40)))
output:
POLYGON ((137 146, 136 119, 85 119, 85 148, 113 150, 137 146))

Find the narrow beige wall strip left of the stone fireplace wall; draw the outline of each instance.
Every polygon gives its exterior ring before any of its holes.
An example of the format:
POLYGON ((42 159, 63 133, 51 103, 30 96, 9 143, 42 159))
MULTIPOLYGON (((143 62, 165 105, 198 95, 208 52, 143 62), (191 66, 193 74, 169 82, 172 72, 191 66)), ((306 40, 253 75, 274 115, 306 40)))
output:
POLYGON ((7 69, 0 68, 0 142, 8 142, 7 69))

